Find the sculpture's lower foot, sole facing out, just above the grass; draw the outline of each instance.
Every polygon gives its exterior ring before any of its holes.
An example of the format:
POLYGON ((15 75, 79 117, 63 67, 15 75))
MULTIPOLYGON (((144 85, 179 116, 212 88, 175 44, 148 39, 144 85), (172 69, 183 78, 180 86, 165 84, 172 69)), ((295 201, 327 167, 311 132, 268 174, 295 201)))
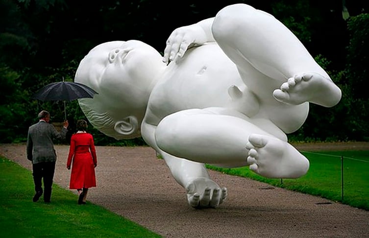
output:
POLYGON ((309 169, 309 161, 287 142, 258 134, 251 134, 248 141, 247 163, 261 176, 298 178, 309 169))

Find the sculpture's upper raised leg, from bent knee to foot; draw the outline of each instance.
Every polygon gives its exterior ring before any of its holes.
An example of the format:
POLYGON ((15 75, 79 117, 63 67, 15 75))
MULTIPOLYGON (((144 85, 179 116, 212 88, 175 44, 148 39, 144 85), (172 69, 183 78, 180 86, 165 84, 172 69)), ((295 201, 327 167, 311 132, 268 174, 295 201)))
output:
POLYGON ((280 88, 273 94, 276 99, 288 104, 309 101, 331 107, 340 101, 341 90, 329 75, 297 37, 270 14, 246 4, 229 5, 215 17, 212 32, 257 95, 262 95, 260 88, 269 87, 269 83, 277 86, 274 89, 280 88), (255 70, 268 77, 257 76, 255 70), (309 77, 296 80, 305 73, 309 77))

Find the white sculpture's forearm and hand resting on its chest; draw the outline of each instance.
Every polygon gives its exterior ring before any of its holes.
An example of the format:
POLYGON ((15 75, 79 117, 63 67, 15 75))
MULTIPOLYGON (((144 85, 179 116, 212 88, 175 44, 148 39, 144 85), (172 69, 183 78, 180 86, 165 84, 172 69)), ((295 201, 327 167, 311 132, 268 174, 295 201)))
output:
POLYGON ((173 30, 167 40, 163 62, 169 63, 183 57, 188 48, 215 42, 211 32, 214 18, 202 20, 196 24, 186 25, 173 30))

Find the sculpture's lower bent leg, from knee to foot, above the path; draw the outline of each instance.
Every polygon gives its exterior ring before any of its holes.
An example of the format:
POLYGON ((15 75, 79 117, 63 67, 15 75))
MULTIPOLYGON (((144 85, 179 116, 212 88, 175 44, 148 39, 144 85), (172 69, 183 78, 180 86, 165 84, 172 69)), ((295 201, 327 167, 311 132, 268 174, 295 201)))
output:
MULTIPOLYGON (((214 111, 190 109, 171 114, 159 123, 155 139, 160 149, 174 156, 236 167, 250 164, 246 159, 249 152, 246 144, 251 134, 270 138, 266 143, 268 146, 259 152, 262 163, 259 163, 259 169, 254 170, 256 173, 287 178, 296 174, 301 176, 301 171, 307 171, 307 159, 286 141, 245 119, 214 114, 214 111), (271 153, 275 155, 270 156, 271 153)), ((255 164, 255 161, 251 162, 255 164)))

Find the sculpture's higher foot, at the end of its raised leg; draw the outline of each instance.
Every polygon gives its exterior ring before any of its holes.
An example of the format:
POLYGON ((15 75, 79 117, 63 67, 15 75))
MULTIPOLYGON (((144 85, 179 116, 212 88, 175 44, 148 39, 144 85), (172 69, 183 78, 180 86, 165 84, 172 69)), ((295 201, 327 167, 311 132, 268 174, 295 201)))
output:
POLYGON ((291 105, 312 102, 324 107, 333 107, 341 100, 341 90, 330 79, 319 73, 296 74, 280 89, 273 92, 276 100, 291 105))

